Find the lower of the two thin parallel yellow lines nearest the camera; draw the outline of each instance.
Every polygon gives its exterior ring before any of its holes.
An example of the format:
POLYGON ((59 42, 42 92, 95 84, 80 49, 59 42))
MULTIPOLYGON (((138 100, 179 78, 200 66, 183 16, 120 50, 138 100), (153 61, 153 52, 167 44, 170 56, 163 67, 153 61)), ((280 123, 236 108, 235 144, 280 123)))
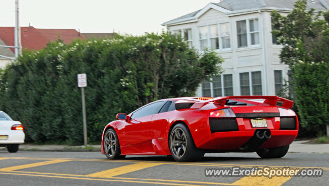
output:
POLYGON ((65 179, 81 179, 81 180, 94 180, 94 181, 113 181, 113 182, 128 182, 128 183, 149 183, 149 184, 179 185, 179 186, 184 186, 184 185, 192 186, 192 185, 194 185, 194 184, 165 183, 165 182, 151 182, 151 181, 135 181, 135 180, 101 179, 101 178, 86 178, 86 177, 35 175, 35 174, 23 174, 23 173, 4 173, 4 172, 0 172, 0 174, 20 175, 20 176, 39 176, 39 177, 50 177, 50 178, 65 178, 65 179))

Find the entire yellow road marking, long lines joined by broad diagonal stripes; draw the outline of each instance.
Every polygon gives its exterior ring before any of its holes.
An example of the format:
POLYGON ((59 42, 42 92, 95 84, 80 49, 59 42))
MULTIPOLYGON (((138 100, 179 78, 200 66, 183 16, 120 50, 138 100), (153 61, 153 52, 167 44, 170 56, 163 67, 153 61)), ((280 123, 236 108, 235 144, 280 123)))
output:
MULTIPOLYGON (((167 184, 167 185, 282 185, 284 182, 289 180, 291 177, 243 177, 233 183, 215 183, 215 182, 204 182, 204 181, 186 181, 186 180, 167 180, 167 179, 152 179, 152 178, 123 178, 115 177, 126 173, 131 173, 162 164, 174 164, 184 166, 204 166, 204 167, 234 167, 239 166, 243 168, 252 167, 271 167, 271 168, 283 168, 287 166, 260 166, 250 164, 223 164, 223 163, 179 163, 179 162, 166 162, 166 161, 139 161, 139 160, 100 160, 100 159, 74 159, 74 158, 25 158, 25 157, 2 157, 2 159, 37 159, 45 160, 42 162, 23 164, 20 166, 13 166, 8 168, 0 169, 0 174, 9 175, 21 175, 21 176, 39 176, 39 177, 52 177, 52 178, 65 178, 65 179, 81 179, 81 180, 96 180, 96 181, 114 181, 114 182, 129 182, 129 183, 149 183, 149 184, 167 184), (60 174, 60 173, 40 173, 40 172, 25 172, 18 171, 22 169, 46 166, 53 163, 61 163, 67 161, 102 161, 102 162, 129 162, 126 166, 100 171, 88 175, 75 175, 75 174, 60 174)), ((318 167, 290 167, 290 168, 318 168, 318 167)), ((329 171, 329 168, 321 168, 325 171, 329 171)))

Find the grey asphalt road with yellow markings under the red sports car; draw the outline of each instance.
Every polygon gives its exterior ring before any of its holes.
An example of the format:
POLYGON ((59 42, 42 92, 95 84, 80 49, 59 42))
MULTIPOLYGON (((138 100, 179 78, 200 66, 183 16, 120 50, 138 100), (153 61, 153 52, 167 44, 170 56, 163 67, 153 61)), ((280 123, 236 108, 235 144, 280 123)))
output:
POLYGON ((261 159, 255 153, 206 154, 199 162, 167 156, 108 160, 100 152, 8 153, 0 149, 0 185, 328 185, 329 154, 288 153, 261 159), (206 177, 206 168, 253 166, 323 168, 322 177, 206 177))

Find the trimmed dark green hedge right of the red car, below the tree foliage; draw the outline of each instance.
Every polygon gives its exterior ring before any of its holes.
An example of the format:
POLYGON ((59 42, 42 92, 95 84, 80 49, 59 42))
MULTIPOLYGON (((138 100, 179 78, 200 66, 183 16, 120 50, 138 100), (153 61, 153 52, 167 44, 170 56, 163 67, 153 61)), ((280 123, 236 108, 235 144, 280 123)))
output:
POLYGON ((329 122, 329 64, 300 63, 294 71, 295 103, 303 136, 325 135, 329 122))

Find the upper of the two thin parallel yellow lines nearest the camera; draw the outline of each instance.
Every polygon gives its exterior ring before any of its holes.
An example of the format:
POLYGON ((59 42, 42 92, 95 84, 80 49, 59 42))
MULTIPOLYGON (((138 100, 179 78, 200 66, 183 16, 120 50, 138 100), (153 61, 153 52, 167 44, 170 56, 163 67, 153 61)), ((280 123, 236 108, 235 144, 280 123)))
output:
MULTIPOLYGON (((86 175, 79 175, 79 174, 40 173, 40 172, 27 172, 27 171, 14 171, 14 173, 30 173, 30 174, 48 174, 48 175, 59 175, 59 176, 87 177, 86 175)), ((217 183, 217 182, 205 182, 205 181, 186 181, 186 180, 172 180, 172 179, 124 178, 124 177, 111 177, 111 179, 145 180, 145 181, 167 181, 167 182, 199 183, 199 184, 214 184, 214 185, 232 185, 231 183, 217 183)))

